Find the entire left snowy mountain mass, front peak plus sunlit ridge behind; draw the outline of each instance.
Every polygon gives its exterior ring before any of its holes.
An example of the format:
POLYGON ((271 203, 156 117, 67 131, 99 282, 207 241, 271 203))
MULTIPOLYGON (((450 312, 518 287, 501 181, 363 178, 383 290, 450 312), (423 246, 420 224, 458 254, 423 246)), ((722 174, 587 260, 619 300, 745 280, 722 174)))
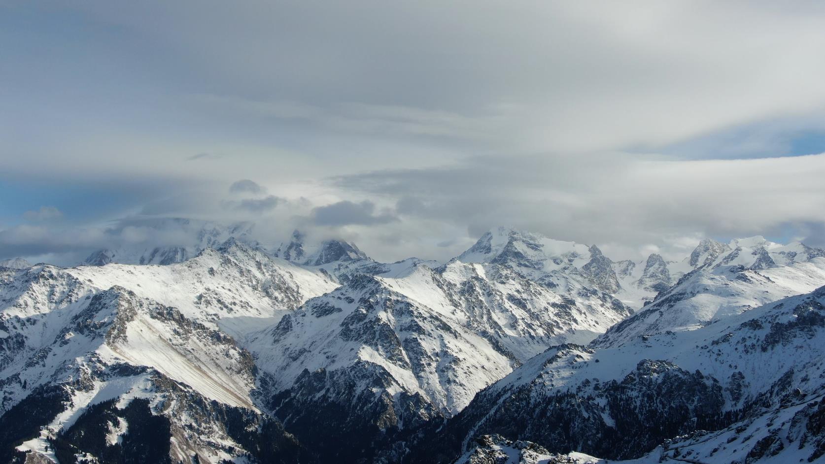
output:
POLYGON ((111 423, 101 440, 127 443, 118 436, 135 430, 128 424, 137 398, 146 405, 134 414, 158 417, 166 428, 156 438, 173 462, 261 453, 258 433, 271 434, 284 457, 303 452, 256 405, 256 368, 238 340, 336 286, 233 239, 176 265, 0 269, 0 429, 15 429, 10 421, 51 401, 31 426, 2 437, 3 446, 26 438, 12 444, 47 457, 61 440, 64 452, 125 452, 126 445, 87 443, 87 425, 73 427, 108 401, 97 410, 111 423))

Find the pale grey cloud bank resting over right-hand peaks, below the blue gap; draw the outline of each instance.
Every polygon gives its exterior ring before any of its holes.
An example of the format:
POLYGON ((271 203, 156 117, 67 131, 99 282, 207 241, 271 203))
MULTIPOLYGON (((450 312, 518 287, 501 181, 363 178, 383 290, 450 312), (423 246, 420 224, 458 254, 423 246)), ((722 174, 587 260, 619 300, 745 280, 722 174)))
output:
POLYGON ((624 255, 655 245, 676 256, 700 237, 788 235, 789 227, 818 241, 822 229, 811 224, 825 224, 823 176, 825 155, 678 161, 613 153, 476 157, 331 181, 352 195, 396 199, 410 234, 427 234, 411 226, 425 221, 468 227, 470 237, 505 224, 609 243, 624 255))

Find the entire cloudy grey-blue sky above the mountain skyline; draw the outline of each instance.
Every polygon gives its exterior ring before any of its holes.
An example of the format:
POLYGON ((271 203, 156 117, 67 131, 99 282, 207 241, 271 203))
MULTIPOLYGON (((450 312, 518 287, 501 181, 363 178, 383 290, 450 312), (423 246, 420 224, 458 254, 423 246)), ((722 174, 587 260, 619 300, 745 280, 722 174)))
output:
POLYGON ((821 2, 0 0, 0 259, 155 218, 385 261, 499 225, 825 246, 823 30, 821 2))

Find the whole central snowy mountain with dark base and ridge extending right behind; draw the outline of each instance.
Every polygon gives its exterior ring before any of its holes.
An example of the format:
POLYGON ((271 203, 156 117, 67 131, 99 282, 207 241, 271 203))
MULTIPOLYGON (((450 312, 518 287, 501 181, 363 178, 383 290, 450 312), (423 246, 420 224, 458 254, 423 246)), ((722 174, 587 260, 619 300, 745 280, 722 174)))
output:
POLYGON ((504 265, 418 264, 357 275, 248 346, 271 373, 271 408, 287 429, 327 437, 319 447, 334 449, 322 456, 371 460, 390 436, 455 415, 546 347, 592 340, 630 313, 606 293, 577 291, 555 293, 504 265))

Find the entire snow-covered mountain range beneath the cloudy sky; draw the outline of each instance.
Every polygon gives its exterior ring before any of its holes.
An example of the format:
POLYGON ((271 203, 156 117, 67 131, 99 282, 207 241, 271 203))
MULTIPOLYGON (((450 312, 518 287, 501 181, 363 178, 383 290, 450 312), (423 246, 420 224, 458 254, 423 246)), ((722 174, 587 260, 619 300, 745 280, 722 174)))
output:
POLYGON ((447 262, 188 241, 0 261, 2 462, 813 462, 825 251, 497 227, 447 262))

